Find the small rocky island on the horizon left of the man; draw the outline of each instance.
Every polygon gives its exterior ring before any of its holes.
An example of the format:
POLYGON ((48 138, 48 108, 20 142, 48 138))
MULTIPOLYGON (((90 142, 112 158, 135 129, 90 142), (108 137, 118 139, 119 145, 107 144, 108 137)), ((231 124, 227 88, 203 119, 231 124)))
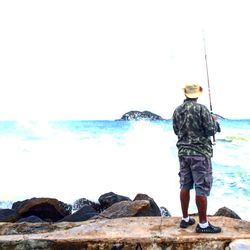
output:
POLYGON ((129 111, 125 113, 120 120, 124 121, 139 121, 139 120, 163 120, 159 115, 156 115, 150 111, 129 111))

